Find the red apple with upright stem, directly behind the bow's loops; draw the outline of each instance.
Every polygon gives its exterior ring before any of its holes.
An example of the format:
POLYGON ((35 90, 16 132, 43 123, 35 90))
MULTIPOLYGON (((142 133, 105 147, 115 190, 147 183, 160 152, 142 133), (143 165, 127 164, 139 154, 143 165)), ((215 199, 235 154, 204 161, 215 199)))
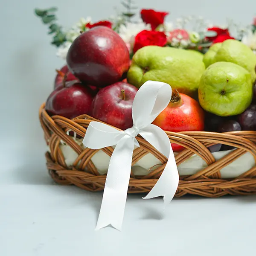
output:
POLYGON ((91 115, 122 130, 132 127, 131 109, 137 91, 137 87, 122 81, 102 88, 93 99, 91 115))

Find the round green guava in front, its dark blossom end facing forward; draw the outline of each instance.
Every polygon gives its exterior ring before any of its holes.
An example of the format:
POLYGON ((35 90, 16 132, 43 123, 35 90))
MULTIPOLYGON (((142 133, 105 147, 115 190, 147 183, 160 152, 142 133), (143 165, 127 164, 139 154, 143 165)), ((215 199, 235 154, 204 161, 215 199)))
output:
POLYGON ((198 99, 204 110, 215 115, 238 115, 253 99, 251 75, 237 64, 216 62, 201 77, 198 99))

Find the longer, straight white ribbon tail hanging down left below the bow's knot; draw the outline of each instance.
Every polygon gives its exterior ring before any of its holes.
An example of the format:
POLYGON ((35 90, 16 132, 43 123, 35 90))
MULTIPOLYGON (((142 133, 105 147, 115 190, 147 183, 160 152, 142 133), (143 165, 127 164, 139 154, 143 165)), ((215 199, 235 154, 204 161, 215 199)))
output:
POLYGON ((116 145, 108 166, 96 230, 108 225, 121 231, 131 175, 134 138, 125 135, 116 145))

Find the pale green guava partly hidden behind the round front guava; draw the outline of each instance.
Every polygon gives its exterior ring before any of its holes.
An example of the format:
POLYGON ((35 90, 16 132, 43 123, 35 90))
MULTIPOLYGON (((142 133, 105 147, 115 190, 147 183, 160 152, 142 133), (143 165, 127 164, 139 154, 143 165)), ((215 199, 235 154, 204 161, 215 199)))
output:
POLYGON ((204 64, 208 67, 218 61, 238 64, 250 72, 252 81, 256 79, 256 55, 247 45, 240 41, 228 39, 223 43, 218 43, 217 46, 213 44, 204 55, 204 64))

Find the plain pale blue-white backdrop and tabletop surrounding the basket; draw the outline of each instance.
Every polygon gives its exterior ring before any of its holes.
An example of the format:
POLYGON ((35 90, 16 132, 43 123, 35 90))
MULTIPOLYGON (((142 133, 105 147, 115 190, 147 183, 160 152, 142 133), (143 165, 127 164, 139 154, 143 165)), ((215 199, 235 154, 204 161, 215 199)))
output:
MULTIPOLYGON (((201 15, 249 24, 253 0, 137 0, 169 11, 168 21, 201 15)), ((95 232, 102 193, 55 185, 47 175, 38 108, 53 87, 55 56, 47 26, 33 9, 58 6, 59 23, 115 14, 118 0, 0 1, 0 255, 254 255, 255 197, 175 199, 163 218, 161 199, 129 195, 120 233, 95 232)))

